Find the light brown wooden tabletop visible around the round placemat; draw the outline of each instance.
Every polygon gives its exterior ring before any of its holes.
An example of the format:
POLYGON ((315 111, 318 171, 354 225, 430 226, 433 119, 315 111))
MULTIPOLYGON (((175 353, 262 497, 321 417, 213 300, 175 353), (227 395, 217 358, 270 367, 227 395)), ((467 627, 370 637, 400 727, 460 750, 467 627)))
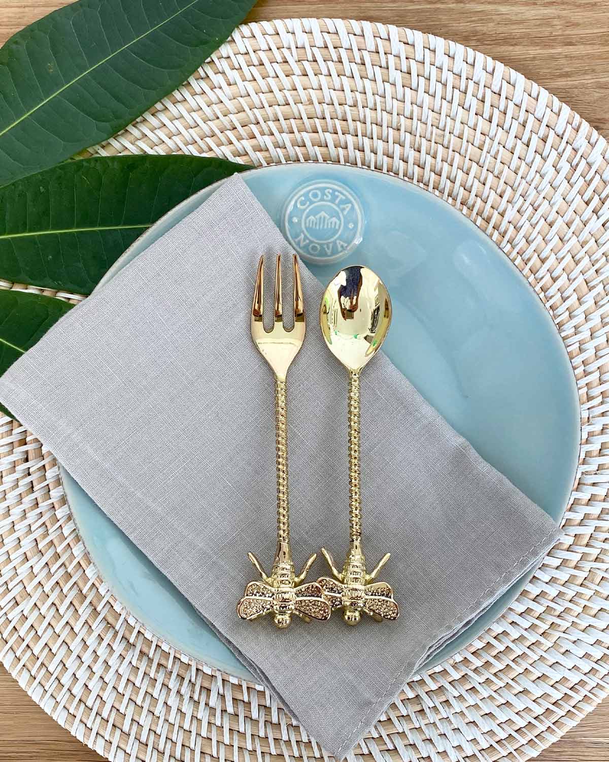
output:
MULTIPOLYGON (((218 0, 219 2, 219 0, 218 0)), ((0 0, 0 44, 66 0, 0 0)), ((311 16, 412 27, 481 50, 533 79, 609 138, 609 2, 554 0, 260 0, 250 20, 311 16)), ((93 762, 0 667, 0 762, 93 762)), ((540 762, 609 762, 609 701, 540 762)))

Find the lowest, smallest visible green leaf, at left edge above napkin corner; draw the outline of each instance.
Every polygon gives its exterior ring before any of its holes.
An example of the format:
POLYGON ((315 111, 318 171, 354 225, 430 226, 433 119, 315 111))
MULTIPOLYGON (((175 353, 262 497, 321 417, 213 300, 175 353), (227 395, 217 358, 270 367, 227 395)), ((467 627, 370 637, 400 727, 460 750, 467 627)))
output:
MULTIPOLYGON (((0 376, 69 309, 53 296, 0 289, 0 376)), ((0 411, 14 418, 4 405, 0 411)))

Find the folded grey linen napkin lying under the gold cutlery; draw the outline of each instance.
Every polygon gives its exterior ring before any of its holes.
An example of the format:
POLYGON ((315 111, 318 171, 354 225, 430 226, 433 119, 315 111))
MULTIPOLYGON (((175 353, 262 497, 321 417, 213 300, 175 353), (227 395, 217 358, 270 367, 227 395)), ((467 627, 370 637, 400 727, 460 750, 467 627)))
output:
MULTIPOLYGON (((256 577, 247 551, 269 570, 275 550, 273 376, 250 338, 253 279, 261 253, 273 268, 290 251, 235 175, 14 363, 0 400, 343 757, 558 527, 380 355, 362 374, 363 541, 371 566, 392 553, 383 578, 400 619, 349 628, 335 615, 285 631, 238 619, 256 577)), ((323 288, 304 268, 303 283, 308 333, 288 385, 298 567, 322 544, 342 563, 348 499, 346 376, 317 324, 323 288)))

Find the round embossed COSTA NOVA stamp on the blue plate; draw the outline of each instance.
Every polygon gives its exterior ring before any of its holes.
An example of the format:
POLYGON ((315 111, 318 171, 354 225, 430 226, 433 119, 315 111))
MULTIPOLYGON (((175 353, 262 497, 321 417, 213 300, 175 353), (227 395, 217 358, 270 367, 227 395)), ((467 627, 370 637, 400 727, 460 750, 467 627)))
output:
POLYGON ((364 215, 355 194, 341 183, 315 181, 298 188, 285 206, 285 234, 305 260, 330 264, 362 240, 364 215))

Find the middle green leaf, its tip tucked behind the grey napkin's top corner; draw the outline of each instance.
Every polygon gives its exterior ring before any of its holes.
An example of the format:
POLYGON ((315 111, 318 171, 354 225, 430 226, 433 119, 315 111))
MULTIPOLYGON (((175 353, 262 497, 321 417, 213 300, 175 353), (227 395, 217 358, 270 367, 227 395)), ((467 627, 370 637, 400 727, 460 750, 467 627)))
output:
POLYGON ((196 156, 65 162, 0 188, 0 277, 91 293, 156 219, 247 165, 196 156))

